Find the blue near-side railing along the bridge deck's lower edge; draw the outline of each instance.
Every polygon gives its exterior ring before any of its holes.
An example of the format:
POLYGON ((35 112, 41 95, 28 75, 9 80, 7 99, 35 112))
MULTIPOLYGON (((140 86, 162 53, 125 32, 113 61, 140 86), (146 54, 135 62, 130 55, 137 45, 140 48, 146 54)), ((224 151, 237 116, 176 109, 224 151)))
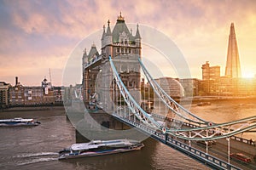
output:
POLYGON ((188 144, 183 144, 182 142, 178 141, 177 139, 173 139, 172 137, 169 137, 168 134, 158 133, 155 129, 151 127, 146 127, 143 124, 133 122, 128 118, 125 117, 119 117, 117 115, 113 115, 117 117, 121 122, 125 122, 130 124, 132 127, 137 127, 141 132, 147 133, 154 139, 159 140, 160 142, 167 144, 171 146, 172 148, 176 150, 180 150, 183 153, 186 153, 190 156, 193 156, 195 159, 199 161, 205 162, 207 165, 211 167, 217 167, 220 169, 230 169, 230 170, 239 170, 239 167, 235 167, 231 164, 229 164, 226 161, 222 161, 219 158, 211 155, 207 155, 205 152, 201 150, 197 150, 188 144))

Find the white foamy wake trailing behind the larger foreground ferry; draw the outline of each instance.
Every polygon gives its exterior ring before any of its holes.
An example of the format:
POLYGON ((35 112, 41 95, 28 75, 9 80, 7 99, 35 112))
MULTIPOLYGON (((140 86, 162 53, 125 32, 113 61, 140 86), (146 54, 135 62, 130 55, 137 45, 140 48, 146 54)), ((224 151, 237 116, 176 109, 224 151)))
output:
POLYGON ((59 154, 56 152, 39 152, 21 154, 18 156, 14 156, 14 158, 19 158, 19 161, 17 161, 17 165, 23 166, 44 161, 56 161, 58 160, 58 155, 59 154))

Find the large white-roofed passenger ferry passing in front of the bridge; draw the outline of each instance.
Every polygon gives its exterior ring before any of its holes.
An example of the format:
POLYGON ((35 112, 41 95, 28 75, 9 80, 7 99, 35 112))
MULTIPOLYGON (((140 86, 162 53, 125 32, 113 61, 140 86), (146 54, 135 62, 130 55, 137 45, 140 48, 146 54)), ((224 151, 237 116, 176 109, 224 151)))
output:
POLYGON ((144 144, 131 139, 92 140, 89 143, 72 144, 70 148, 61 150, 59 160, 140 150, 143 146, 144 144))

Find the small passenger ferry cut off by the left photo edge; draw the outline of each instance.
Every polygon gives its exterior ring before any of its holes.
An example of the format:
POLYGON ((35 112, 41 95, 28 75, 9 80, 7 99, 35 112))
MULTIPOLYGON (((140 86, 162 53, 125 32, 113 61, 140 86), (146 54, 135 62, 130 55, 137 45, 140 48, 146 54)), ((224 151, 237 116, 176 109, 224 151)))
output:
POLYGON ((1 119, 0 126, 37 126, 40 122, 34 122, 33 119, 23 119, 21 117, 14 119, 1 119))

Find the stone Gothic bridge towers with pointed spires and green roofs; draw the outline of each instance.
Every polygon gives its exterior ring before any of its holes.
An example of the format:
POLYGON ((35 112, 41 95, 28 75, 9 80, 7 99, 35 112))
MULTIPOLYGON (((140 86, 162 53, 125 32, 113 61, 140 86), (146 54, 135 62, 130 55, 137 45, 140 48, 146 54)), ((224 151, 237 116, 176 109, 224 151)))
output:
POLYGON ((128 85, 131 95, 140 103, 140 65, 137 61, 141 57, 141 36, 137 26, 136 34, 128 29, 125 18, 119 14, 113 31, 108 20, 107 31, 103 26, 101 54, 98 53, 96 45, 90 48, 87 55, 83 55, 83 87, 84 102, 97 96, 97 101, 102 103, 105 111, 112 111, 117 105, 119 92, 113 80, 113 73, 108 62, 111 56, 113 63, 128 85))

